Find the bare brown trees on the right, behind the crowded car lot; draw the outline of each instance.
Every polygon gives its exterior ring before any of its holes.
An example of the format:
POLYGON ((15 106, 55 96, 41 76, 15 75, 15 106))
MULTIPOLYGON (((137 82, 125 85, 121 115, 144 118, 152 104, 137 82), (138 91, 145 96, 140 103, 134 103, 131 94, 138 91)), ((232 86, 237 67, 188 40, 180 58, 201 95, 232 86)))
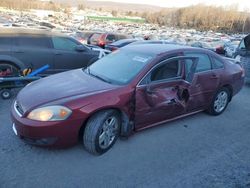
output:
POLYGON ((250 13, 239 12, 237 6, 223 8, 199 4, 179 9, 163 9, 155 13, 144 12, 141 17, 161 26, 201 31, 250 32, 250 13))

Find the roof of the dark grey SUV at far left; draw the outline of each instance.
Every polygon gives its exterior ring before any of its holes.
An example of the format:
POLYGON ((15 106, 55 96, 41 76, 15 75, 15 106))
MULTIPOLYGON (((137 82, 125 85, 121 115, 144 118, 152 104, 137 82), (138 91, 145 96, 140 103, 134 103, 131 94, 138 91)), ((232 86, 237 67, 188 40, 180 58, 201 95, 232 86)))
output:
POLYGON ((62 33, 52 32, 50 30, 44 30, 44 29, 29 29, 29 28, 15 28, 15 27, 9 27, 9 28, 0 28, 0 36, 4 35, 47 35, 47 36, 67 36, 62 33))

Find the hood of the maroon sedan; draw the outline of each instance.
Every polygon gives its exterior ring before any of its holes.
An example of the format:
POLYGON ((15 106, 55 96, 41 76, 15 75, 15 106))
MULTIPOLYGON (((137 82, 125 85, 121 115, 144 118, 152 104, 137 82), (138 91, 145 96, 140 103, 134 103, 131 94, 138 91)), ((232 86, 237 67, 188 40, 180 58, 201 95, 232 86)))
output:
POLYGON ((42 78, 23 88, 17 103, 22 111, 32 110, 55 101, 111 90, 115 87, 83 72, 82 69, 42 78))

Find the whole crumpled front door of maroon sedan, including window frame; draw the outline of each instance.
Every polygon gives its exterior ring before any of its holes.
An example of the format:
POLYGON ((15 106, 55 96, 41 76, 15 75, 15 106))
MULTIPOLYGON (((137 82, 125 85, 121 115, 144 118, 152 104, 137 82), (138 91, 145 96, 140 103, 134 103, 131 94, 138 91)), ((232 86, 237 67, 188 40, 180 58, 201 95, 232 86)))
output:
POLYGON ((157 64, 136 88, 135 128, 185 114, 198 58, 175 57, 157 64), (185 63, 191 62, 189 72, 185 63))

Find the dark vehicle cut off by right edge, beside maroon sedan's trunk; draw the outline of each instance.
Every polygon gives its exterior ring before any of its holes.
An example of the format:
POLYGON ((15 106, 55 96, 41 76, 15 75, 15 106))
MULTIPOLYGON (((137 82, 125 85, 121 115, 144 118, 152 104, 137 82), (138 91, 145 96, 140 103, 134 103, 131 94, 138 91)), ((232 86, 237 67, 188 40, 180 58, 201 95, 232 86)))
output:
POLYGON ((250 83, 250 34, 244 37, 235 53, 235 60, 245 69, 245 79, 250 83))

